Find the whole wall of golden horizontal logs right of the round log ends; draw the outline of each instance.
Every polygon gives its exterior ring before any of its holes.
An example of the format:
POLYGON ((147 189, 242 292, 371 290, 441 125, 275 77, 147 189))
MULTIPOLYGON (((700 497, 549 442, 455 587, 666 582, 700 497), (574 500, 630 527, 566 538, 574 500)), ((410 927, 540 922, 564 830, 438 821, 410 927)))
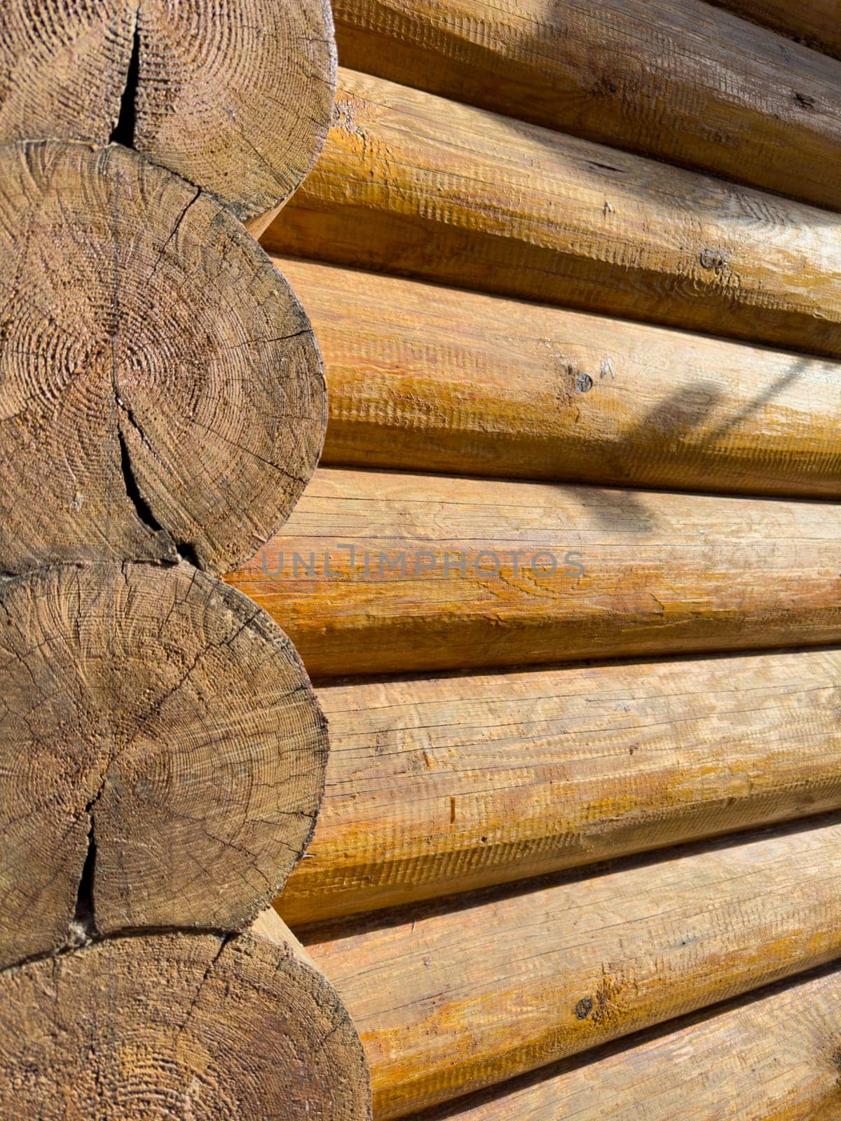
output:
POLYGON ((264 235, 322 466, 228 580, 330 720, 276 907, 382 1121, 840 1108, 832 8, 336 2, 264 235))

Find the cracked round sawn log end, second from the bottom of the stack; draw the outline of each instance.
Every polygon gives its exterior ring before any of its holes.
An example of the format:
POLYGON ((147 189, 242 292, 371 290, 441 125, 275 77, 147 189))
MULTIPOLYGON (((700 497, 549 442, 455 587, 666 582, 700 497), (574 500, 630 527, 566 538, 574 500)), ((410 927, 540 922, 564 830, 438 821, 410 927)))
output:
POLYGON ((0 582, 0 967, 93 934, 242 929, 312 835, 327 739, 303 666, 186 564, 0 582))

